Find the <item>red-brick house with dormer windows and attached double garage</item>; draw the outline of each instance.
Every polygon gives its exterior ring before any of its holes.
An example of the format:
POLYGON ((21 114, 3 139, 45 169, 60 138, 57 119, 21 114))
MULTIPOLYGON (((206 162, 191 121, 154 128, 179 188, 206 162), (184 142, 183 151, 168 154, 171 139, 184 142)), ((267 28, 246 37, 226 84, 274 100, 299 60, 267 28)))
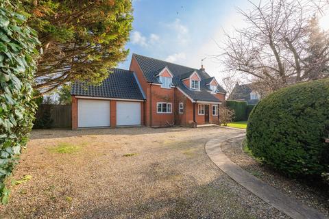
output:
POLYGON ((101 86, 75 83, 72 128, 217 124, 226 91, 204 68, 132 55, 130 70, 115 68, 101 86))

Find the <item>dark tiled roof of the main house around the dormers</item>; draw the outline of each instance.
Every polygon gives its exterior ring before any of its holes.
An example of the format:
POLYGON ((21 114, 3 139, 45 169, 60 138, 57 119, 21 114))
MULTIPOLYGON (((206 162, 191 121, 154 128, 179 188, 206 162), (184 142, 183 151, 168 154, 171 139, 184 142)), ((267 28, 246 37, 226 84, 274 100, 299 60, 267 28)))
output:
MULTIPOLYGON (((211 102, 219 102, 219 99, 215 97, 213 94, 210 94, 208 87, 205 85, 205 83, 200 83, 200 90, 190 90, 189 88, 186 88, 184 83, 182 83, 182 79, 189 77, 194 71, 197 72, 199 77, 201 77, 202 81, 204 79, 210 79, 211 77, 206 73, 205 71, 196 69, 196 68, 190 68, 186 66, 181 66, 179 64, 173 64, 171 62, 165 62, 162 60, 156 60, 151 57, 146 57, 143 55, 137 55, 133 54, 133 58, 136 58, 136 61, 138 62, 138 65, 141 67, 141 70, 143 71, 144 77, 147 82, 150 83, 160 83, 158 79, 156 78, 156 71, 159 69, 163 69, 165 66, 169 68, 171 73, 173 74, 173 85, 178 86, 183 92, 185 92, 188 96, 191 97, 191 99, 196 101, 211 101, 211 102), (186 77, 186 75, 188 75, 186 77)), ((221 86, 218 86, 219 92, 225 92, 221 86)))

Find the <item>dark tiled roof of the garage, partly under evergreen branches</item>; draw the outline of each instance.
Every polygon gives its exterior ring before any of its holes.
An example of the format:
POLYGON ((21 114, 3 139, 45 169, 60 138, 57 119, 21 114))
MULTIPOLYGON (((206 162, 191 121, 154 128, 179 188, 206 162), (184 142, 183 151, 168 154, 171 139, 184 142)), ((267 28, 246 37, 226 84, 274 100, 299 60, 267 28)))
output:
POLYGON ((134 73, 119 68, 113 68, 112 73, 100 86, 88 86, 84 82, 73 83, 71 94, 116 99, 145 99, 134 73))

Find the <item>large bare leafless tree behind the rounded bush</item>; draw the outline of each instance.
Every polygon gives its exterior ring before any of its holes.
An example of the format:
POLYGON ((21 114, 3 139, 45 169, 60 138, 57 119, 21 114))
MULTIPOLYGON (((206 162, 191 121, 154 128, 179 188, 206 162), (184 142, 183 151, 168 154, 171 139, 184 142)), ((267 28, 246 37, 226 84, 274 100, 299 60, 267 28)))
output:
POLYGON ((310 59, 309 21, 319 12, 310 1, 269 0, 252 4, 252 10, 239 12, 244 28, 226 34, 223 49, 226 69, 245 73, 271 92, 290 83, 319 79, 315 70, 329 62, 328 34, 323 33, 321 51, 310 59))

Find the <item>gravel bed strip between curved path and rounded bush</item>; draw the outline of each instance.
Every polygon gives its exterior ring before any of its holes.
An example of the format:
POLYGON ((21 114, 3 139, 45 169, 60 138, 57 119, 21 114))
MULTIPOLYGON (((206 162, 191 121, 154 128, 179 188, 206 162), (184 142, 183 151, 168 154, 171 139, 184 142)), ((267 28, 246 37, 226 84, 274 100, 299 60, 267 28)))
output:
POLYGON ((229 140, 222 146, 223 152, 232 160, 232 162, 241 166, 258 179, 265 181, 288 196, 296 198, 308 206, 318 209, 326 216, 329 216, 329 190, 326 185, 315 185, 284 177, 280 173, 271 170, 243 152, 243 138, 229 140))

